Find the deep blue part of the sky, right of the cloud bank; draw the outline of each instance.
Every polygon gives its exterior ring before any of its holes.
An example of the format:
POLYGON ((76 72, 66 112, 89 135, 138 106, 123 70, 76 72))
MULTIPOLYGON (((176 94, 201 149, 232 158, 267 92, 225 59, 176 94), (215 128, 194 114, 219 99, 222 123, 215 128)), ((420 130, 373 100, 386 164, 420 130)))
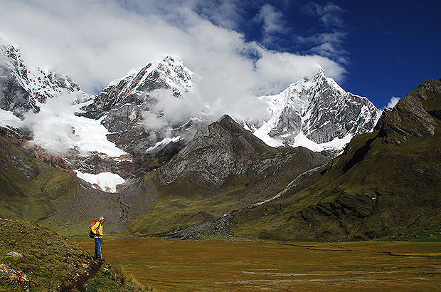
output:
POLYGON ((230 24, 203 7, 196 11, 271 50, 319 53, 337 61, 346 70, 339 84, 378 108, 392 97, 403 98, 427 78, 441 78, 441 1, 241 3, 235 4, 238 14, 231 14, 230 24), (260 16, 264 9, 275 22, 267 31, 260 16))

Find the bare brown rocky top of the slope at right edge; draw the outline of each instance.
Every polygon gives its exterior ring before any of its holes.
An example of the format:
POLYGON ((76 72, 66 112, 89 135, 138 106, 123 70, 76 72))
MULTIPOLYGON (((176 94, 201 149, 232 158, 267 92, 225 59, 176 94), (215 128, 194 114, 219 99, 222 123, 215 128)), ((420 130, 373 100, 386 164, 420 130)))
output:
POLYGON ((441 80, 426 80, 400 99, 386 116, 381 135, 388 142, 400 144, 409 137, 427 137, 435 133, 437 113, 441 110, 441 80), (437 98, 438 97, 438 98, 437 98))

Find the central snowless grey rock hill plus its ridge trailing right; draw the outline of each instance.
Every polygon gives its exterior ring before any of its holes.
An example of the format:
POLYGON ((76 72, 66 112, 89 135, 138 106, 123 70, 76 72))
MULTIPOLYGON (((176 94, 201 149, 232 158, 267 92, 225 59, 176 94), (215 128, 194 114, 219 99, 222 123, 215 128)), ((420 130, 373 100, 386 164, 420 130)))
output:
POLYGON ((224 115, 218 122, 201 127, 178 155, 159 168, 156 177, 161 184, 170 184, 191 176, 199 185, 216 189, 230 175, 258 175, 275 165, 284 165, 296 155, 311 161, 307 165, 310 168, 327 162, 319 153, 302 151, 306 153, 269 147, 224 115))

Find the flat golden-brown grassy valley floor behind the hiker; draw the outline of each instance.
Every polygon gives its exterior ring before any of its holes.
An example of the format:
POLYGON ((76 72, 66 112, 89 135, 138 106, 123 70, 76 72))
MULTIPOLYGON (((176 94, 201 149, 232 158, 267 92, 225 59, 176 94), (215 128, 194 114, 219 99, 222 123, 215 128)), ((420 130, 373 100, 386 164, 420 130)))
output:
MULTIPOLYGON (((93 252, 92 240, 75 240, 93 252)), ((103 256, 153 291, 434 291, 441 243, 103 242, 103 256)))

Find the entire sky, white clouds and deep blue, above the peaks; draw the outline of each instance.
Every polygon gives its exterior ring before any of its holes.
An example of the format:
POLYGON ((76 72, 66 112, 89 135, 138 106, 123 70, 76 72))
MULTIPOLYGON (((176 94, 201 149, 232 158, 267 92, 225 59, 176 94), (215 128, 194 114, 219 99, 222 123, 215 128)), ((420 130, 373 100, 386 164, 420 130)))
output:
POLYGON ((440 1, 361 2, 0 0, 0 37, 90 93, 179 56, 225 113, 240 98, 280 92, 316 63, 378 108, 441 78, 440 1))

